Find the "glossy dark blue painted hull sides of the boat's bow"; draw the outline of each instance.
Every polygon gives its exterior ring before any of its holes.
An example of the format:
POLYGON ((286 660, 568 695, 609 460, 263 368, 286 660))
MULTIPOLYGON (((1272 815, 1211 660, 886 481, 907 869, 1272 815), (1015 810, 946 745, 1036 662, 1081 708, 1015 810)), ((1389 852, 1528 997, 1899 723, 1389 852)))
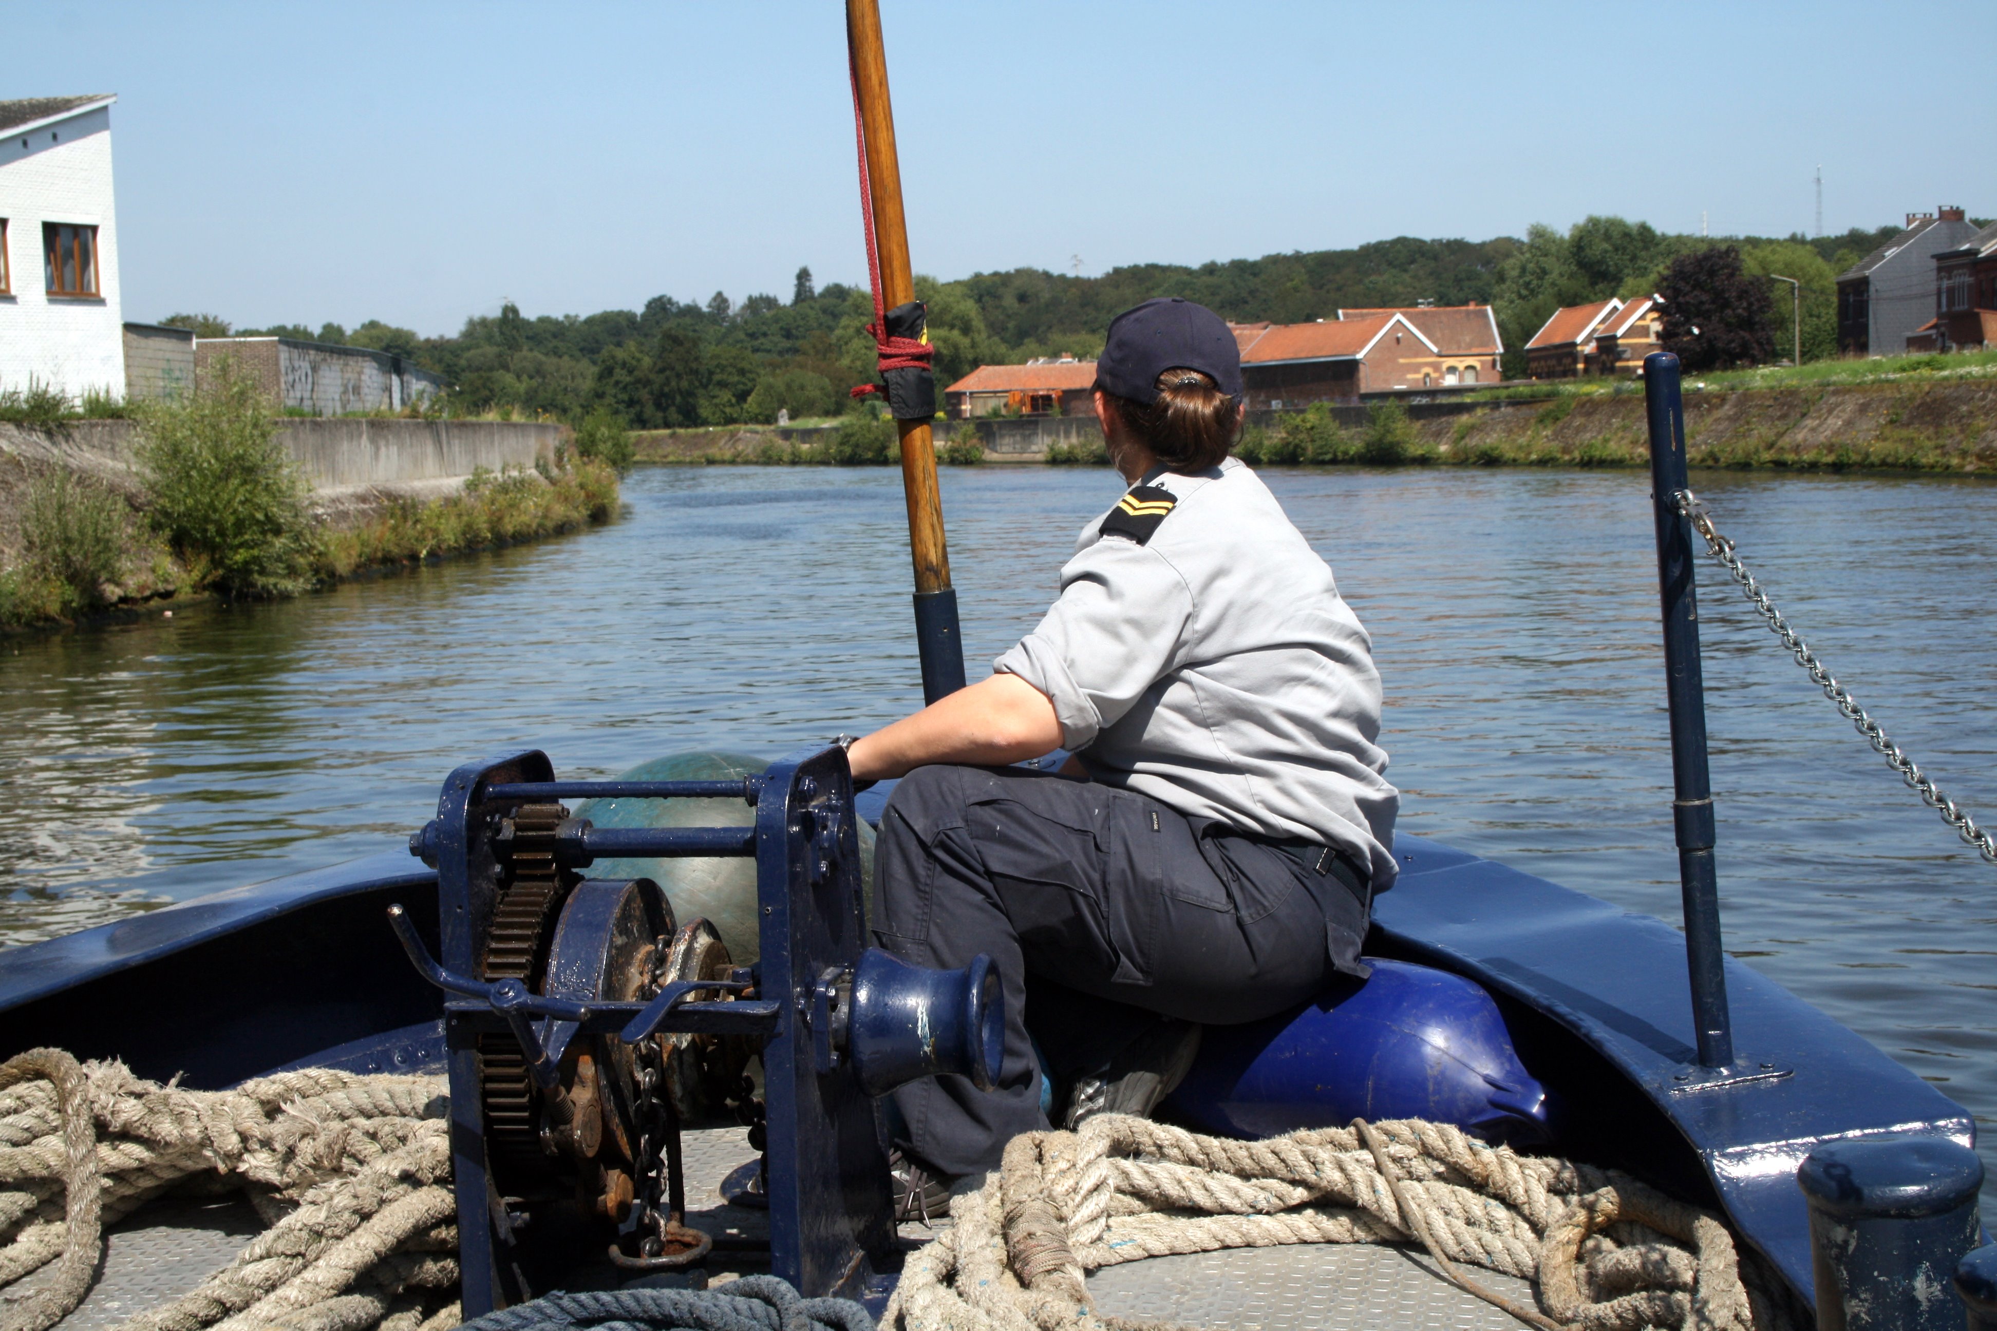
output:
MULTIPOLYGON (((1548 1149, 1723 1209, 1805 1301, 1795 1167, 1815 1143, 1901 1131, 1975 1143, 1959 1106, 1733 962, 1741 1056, 1793 1076, 1681 1092, 1691 1006, 1675 930, 1418 838, 1396 854, 1402 876, 1376 902, 1368 952, 1492 994, 1558 1106, 1548 1149)), ((441 1072, 441 998, 401 956, 391 902, 435 948, 435 874, 397 850, 4 950, 0 1056, 60 1046, 196 1088, 312 1064, 441 1072)))

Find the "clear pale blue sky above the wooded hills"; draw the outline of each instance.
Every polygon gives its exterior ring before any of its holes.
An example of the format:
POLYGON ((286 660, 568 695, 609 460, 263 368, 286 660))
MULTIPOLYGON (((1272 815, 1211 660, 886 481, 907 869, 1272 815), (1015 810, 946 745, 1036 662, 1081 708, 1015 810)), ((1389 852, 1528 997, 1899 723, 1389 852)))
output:
MULTIPOLYGON (((883 0, 919 271, 1997 214, 1997 4, 883 0)), ((863 279, 839 0, 8 6, 116 92, 128 319, 421 333, 863 279)), ((32 56, 28 54, 32 52, 32 56)))

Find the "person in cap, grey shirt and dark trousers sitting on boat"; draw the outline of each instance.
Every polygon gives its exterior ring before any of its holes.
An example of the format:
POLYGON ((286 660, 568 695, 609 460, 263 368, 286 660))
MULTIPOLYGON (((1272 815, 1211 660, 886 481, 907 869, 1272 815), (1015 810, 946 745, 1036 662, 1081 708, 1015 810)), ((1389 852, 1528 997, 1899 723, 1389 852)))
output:
POLYGON ((881 820, 875 938, 921 966, 985 952, 1004 982, 998 1088, 895 1092, 897 1145, 933 1185, 1048 1125, 1042 1060, 1068 1125, 1146 1113, 1198 1024, 1364 976, 1372 896, 1394 878, 1372 643, 1228 457, 1244 409, 1232 331, 1184 299, 1128 309, 1094 399, 1130 491, 1082 529, 1060 599, 991 678, 849 748, 857 780, 903 776, 881 820), (1060 774, 1008 766, 1054 748, 1072 752, 1060 774))

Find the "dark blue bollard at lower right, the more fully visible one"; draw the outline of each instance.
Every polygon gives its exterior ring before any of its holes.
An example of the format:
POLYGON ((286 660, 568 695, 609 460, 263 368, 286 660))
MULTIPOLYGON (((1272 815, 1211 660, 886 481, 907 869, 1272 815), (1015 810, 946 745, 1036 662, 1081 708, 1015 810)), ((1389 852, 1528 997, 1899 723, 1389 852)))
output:
POLYGON ((1795 1171, 1809 1201, 1817 1331, 1961 1331, 1947 1297, 1983 1239, 1983 1161, 1949 1137, 1819 1145, 1795 1171))

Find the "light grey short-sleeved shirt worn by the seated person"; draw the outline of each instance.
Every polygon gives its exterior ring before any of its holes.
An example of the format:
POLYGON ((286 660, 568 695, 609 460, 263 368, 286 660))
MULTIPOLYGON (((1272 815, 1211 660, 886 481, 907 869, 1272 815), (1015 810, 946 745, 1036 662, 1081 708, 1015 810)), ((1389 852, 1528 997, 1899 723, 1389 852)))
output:
POLYGON ((1142 545, 1088 523, 1060 599, 993 663, 1054 702, 1090 778, 1394 882, 1372 641, 1332 569, 1240 459, 1142 481, 1176 505, 1142 545))

